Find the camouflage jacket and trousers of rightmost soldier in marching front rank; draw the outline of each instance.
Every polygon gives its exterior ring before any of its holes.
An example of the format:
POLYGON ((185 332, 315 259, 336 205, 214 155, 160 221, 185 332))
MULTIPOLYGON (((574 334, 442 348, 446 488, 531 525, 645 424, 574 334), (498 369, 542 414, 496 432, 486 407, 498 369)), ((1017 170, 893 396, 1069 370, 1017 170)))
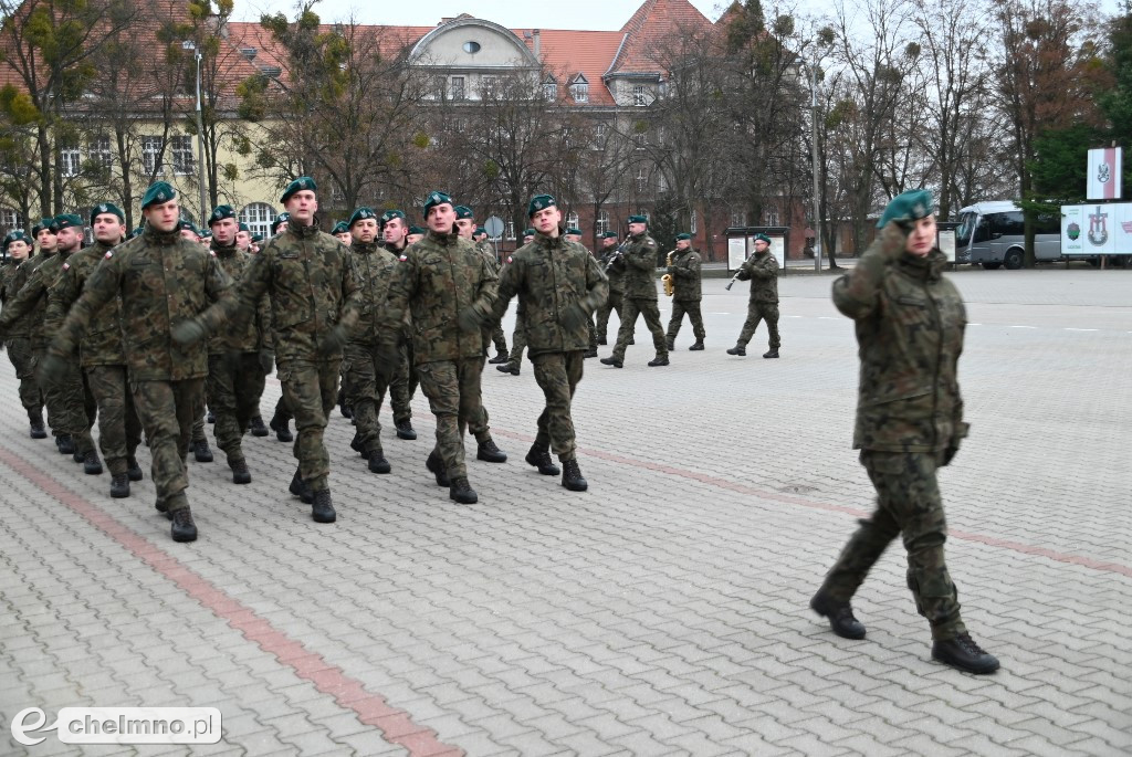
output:
POLYGON ((598 260, 577 242, 537 233, 504 267, 497 316, 516 294, 526 315, 534 380, 547 399, 534 444, 541 449, 549 445, 563 462, 574 459, 571 401, 582 380, 589 317, 609 296, 609 281, 598 260), (560 320, 572 307, 581 307, 585 320, 567 327, 560 320))

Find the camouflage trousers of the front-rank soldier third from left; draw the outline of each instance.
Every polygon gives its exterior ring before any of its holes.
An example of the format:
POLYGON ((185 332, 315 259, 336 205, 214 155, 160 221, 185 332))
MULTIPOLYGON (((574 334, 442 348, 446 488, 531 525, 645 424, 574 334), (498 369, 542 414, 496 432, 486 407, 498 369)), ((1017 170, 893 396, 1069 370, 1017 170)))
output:
POLYGON ((482 422, 482 358, 439 360, 417 367, 421 390, 436 416, 436 450, 453 479, 468 476, 464 427, 482 422))

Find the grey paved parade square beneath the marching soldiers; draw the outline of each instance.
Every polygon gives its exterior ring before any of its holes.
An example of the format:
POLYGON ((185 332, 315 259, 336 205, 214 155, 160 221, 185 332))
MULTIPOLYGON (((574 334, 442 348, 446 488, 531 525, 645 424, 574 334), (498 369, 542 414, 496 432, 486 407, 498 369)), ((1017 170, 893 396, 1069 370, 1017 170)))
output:
MULTIPOLYGON (((389 475, 368 472, 334 411, 332 525, 288 493, 295 464, 274 435, 243 442, 249 485, 220 455, 190 458, 190 544, 154 510, 146 449, 145 481, 112 500, 109 474, 28 438, 5 355, 0 752, 1132 754, 1132 270, 952 276, 971 433, 941 474, 947 562, 997 673, 931 660, 899 543, 855 599, 866 639, 808 609, 872 508, 850 448, 852 322, 830 275, 791 273, 782 358, 758 356, 765 327, 732 358, 747 285, 705 278, 705 352, 687 351, 685 322, 671 365, 648 368, 642 321, 624 369, 585 362, 589 491, 523 462, 542 407, 531 364, 488 365, 511 459, 475 462, 469 438, 478 505, 424 470, 435 425, 418 392, 415 441, 383 408, 389 475), (50 724, 77 706, 215 707, 222 736, 12 738, 26 708, 50 724)), ((268 379, 265 418, 278 395, 268 379)))

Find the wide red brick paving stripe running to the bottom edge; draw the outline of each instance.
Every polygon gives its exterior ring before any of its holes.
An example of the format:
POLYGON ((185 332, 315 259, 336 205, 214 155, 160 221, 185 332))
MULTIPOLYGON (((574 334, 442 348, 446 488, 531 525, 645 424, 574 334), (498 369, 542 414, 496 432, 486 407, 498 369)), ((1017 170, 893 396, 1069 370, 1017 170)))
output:
POLYGON ((414 723, 409 713, 391 706, 385 697, 367 691, 361 681, 346 676, 337 665, 326 662, 321 655, 288 637, 268 620, 258 617, 175 557, 115 521, 97 505, 65 488, 51 474, 29 465, 7 449, 0 449, 0 462, 69 507, 156 573, 175 583, 245 638, 255 642, 264 652, 275 655, 299 678, 314 683, 316 689, 333 697, 340 706, 352 709, 362 723, 379 729, 386 741, 403 747, 413 757, 455 757, 464 754, 462 749, 441 742, 435 731, 414 723))

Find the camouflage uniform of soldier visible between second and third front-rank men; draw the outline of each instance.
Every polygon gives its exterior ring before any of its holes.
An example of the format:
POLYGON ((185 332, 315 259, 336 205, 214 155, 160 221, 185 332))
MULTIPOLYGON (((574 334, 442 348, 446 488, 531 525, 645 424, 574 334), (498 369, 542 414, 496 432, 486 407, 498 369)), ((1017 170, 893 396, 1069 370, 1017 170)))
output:
POLYGON ((342 372, 345 376, 346 398, 358 427, 358 442, 369 455, 381 451, 381 423, 378 415, 389 380, 397 369, 397 365, 383 363, 378 349, 385 300, 397 267, 397 258, 375 242, 357 240, 350 247, 350 255, 361 292, 361 316, 346 342, 342 372))

